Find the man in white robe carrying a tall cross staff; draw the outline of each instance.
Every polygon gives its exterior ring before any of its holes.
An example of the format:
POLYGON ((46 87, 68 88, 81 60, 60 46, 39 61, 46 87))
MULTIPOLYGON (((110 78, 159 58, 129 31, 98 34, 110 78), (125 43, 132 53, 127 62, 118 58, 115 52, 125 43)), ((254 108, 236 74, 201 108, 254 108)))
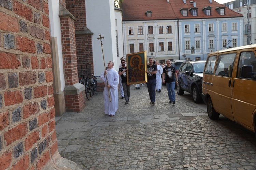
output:
POLYGON ((110 61, 108 63, 108 69, 105 70, 100 79, 104 81, 104 105, 105 105, 105 114, 109 116, 114 116, 118 109, 118 84, 119 84, 119 74, 116 70, 113 69, 114 62, 110 61), (108 78, 108 84, 107 80, 108 78), (109 89, 109 90, 108 90, 109 89), (110 91, 110 99, 109 99, 110 91))

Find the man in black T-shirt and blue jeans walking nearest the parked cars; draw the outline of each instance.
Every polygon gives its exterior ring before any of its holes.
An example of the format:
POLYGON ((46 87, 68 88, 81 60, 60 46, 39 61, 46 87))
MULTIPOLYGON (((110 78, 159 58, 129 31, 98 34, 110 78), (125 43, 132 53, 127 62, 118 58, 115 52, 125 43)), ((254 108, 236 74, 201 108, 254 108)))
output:
POLYGON ((178 76, 176 73, 176 69, 171 66, 171 61, 167 60, 166 61, 167 66, 165 66, 165 68, 163 68, 163 74, 162 74, 162 81, 163 83, 166 84, 166 88, 168 91, 168 96, 169 96, 169 103, 175 104, 175 83, 178 84, 178 76), (176 77, 176 81, 175 78, 176 77))

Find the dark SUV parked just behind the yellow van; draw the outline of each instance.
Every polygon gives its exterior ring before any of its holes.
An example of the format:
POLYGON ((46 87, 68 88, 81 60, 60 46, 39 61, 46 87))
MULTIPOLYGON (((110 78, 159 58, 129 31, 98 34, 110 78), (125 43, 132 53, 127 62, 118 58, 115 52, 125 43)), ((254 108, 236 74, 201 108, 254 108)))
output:
POLYGON ((193 96, 195 103, 202 102, 202 79, 205 61, 183 62, 178 70, 177 93, 183 95, 184 91, 193 96))

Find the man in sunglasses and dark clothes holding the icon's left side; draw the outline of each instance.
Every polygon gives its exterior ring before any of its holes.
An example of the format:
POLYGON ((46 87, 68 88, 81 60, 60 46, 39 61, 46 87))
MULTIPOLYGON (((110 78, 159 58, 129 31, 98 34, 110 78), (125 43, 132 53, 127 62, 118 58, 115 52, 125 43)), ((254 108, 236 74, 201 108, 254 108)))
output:
POLYGON ((121 82, 124 90, 125 104, 130 102, 130 85, 127 85, 127 70, 125 60, 121 60, 122 67, 119 68, 119 75, 121 76, 121 82))

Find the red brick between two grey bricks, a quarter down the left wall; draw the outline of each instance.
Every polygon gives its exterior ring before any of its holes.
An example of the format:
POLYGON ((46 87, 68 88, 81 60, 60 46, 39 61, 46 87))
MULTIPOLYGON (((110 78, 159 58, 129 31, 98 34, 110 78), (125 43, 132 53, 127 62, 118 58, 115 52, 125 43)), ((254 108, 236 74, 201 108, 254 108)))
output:
POLYGON ((27 37, 17 37, 17 49, 22 52, 35 53, 35 41, 27 37))

